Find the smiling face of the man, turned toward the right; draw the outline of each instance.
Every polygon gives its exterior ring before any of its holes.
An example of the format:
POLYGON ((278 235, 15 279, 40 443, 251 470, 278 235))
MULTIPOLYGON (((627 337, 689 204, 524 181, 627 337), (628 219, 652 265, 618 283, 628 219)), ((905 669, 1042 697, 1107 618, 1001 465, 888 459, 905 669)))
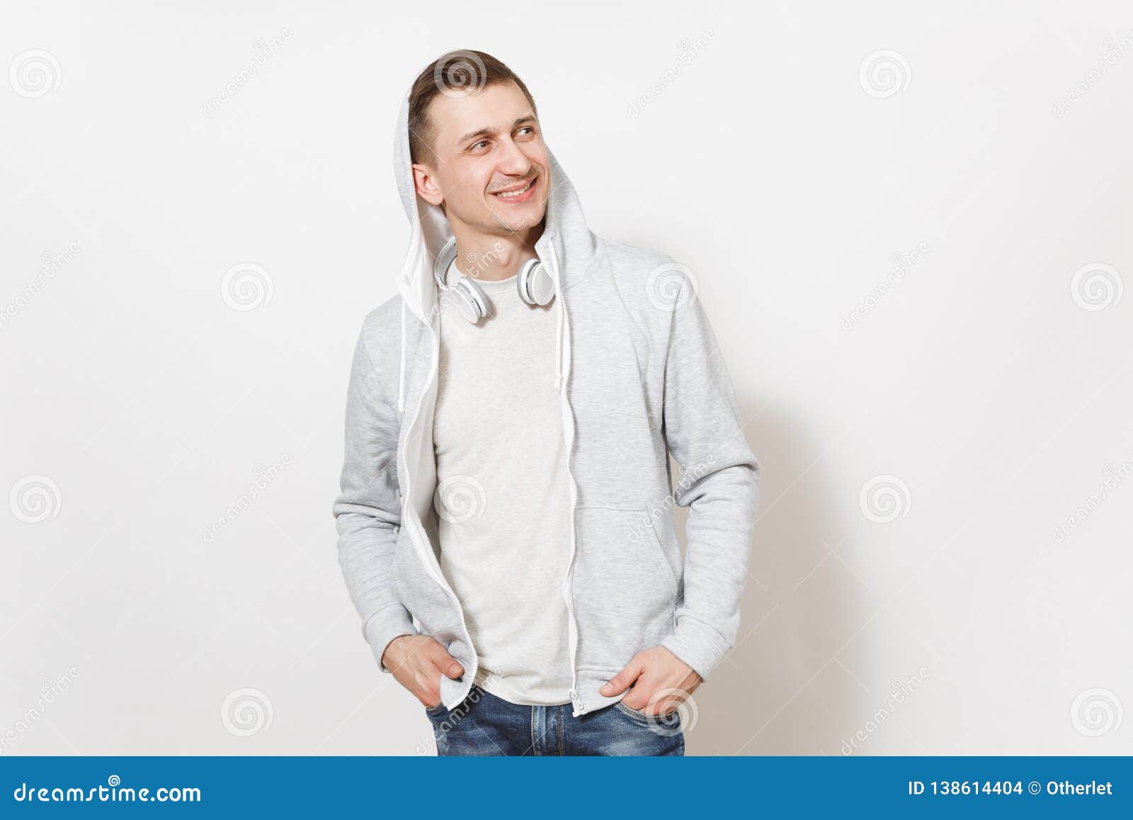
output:
POLYGON ((539 122, 514 83, 437 95, 428 108, 434 166, 414 166, 417 191, 444 204, 450 221, 486 234, 518 233, 543 221, 551 164, 539 122))

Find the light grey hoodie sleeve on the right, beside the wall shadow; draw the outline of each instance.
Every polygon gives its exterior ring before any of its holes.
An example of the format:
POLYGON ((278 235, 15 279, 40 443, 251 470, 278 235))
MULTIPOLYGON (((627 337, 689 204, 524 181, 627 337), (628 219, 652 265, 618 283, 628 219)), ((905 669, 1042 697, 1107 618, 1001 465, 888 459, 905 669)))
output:
POLYGON ((696 289, 684 277, 665 361, 664 432, 681 466, 673 490, 689 508, 684 598, 662 642, 707 679, 735 644, 759 499, 759 463, 743 437, 735 392, 696 289))

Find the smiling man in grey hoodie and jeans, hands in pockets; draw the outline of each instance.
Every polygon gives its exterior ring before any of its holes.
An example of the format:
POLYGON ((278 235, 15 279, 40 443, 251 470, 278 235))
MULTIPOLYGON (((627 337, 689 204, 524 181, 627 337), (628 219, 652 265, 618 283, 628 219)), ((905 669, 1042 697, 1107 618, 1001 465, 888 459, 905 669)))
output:
POLYGON ((695 281, 590 233, 489 54, 421 71, 394 170, 412 234, 355 349, 334 504, 363 634, 442 754, 682 754, 759 476, 695 281))

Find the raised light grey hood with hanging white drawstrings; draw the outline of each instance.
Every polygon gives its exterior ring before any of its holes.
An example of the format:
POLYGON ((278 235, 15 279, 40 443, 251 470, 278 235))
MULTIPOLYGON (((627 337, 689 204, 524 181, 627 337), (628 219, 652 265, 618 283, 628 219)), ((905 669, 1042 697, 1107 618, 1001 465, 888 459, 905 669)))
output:
MULTIPOLYGON (((563 291, 571 281, 581 278, 589 259, 594 255, 596 238, 586 225, 582 206, 574 186, 555 159, 550 146, 547 157, 551 164, 551 193, 543 236, 535 243, 535 251, 548 265, 555 280, 555 298, 562 299, 563 291), (550 262, 550 264, 548 264, 550 262), (571 273, 574 273, 572 279, 571 273)), ((404 411, 406 394, 406 311, 426 324, 436 320, 438 299, 433 263, 445 243, 452 238, 452 227, 440 206, 417 196, 414 185, 412 160, 409 155, 409 93, 401 101, 398 126, 393 140, 393 174, 398 180, 398 194, 409 219, 409 247, 398 272, 398 289, 401 294, 401 367, 398 375, 398 411, 404 411)), ((518 298, 518 296, 517 296, 518 298)), ((563 308, 559 311, 559 377, 563 373, 563 308)))

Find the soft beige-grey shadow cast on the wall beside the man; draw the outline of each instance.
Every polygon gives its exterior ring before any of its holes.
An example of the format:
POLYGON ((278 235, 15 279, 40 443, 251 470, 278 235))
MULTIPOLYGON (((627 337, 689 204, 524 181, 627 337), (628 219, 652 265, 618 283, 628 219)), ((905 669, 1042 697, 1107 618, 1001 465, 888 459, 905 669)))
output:
MULTIPOLYGON (((687 753, 842 754, 872 711, 855 680, 869 668, 870 631, 850 639, 874 610, 840 543, 846 505, 825 467, 835 442, 782 404, 736 399, 759 459, 759 509, 736 645, 693 694, 687 753)), ((684 543, 688 510, 676 510, 684 543)))

